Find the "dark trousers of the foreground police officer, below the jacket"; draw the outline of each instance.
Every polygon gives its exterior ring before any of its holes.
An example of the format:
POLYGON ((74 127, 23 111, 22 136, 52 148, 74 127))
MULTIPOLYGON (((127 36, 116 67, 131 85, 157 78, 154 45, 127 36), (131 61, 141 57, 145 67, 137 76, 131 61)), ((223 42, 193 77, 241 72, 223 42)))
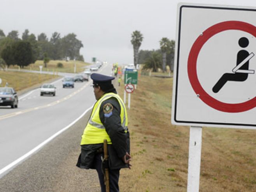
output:
MULTIPOLYGON (((96 168, 100 180, 100 187, 101 187, 101 192, 106 192, 106 187, 104 184, 104 175, 102 173, 102 159, 103 158, 103 153, 96 154, 94 157, 94 167, 96 168)), ((110 170, 109 169, 109 188, 110 192, 119 192, 119 186, 118 186, 118 180, 119 180, 119 171, 120 169, 114 169, 110 170)))

